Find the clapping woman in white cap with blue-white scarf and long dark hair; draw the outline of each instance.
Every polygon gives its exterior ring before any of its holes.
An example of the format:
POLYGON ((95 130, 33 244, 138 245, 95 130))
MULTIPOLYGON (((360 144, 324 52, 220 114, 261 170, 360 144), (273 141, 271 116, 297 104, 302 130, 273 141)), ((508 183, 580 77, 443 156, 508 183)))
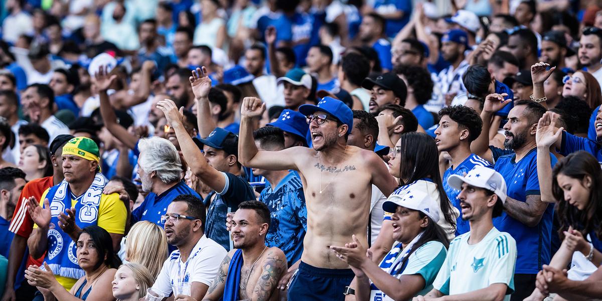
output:
POLYGON ((380 264, 355 235, 344 247, 330 247, 355 273, 356 300, 409 300, 428 293, 449 247, 447 234, 437 224, 439 204, 426 192, 405 191, 391 194, 382 208, 392 214, 396 243, 380 264))

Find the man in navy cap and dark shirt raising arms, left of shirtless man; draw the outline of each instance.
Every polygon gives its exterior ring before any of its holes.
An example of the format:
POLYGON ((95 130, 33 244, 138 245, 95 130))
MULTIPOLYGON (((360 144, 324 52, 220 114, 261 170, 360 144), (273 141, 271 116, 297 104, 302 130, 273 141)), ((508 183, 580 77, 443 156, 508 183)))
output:
MULTIPOLYGON (((206 71, 205 67, 203 70, 206 71)), ((192 74, 190 83, 194 94, 208 95, 211 79, 200 68, 192 74)), ((224 223, 226 214, 245 200, 255 200, 255 193, 249 182, 241 176, 242 166, 238 162, 238 137, 225 129, 215 128, 207 134, 206 138, 195 141, 186 131, 182 123, 184 117, 173 101, 169 99, 160 101, 158 107, 175 131, 182 155, 191 172, 214 190, 214 193, 206 197, 206 202, 211 204, 207 211, 205 225, 207 237, 221 244, 226 250, 231 249, 224 223)))

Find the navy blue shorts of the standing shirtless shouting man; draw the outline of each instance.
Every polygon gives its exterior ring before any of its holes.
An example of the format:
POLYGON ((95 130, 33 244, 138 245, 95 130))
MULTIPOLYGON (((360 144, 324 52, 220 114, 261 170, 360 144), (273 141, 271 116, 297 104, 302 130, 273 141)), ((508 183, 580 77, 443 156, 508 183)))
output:
POLYGON ((302 261, 288 286, 288 300, 345 300, 343 292, 353 277, 350 268, 319 268, 302 261))

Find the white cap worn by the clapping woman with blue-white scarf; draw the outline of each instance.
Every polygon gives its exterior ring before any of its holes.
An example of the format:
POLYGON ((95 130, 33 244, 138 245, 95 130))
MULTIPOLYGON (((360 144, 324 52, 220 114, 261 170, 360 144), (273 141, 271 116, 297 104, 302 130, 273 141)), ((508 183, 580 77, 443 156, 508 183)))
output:
POLYGON ((433 222, 439 222, 439 204, 424 191, 404 190, 400 194, 391 194, 382 204, 382 209, 388 213, 395 213, 397 206, 420 211, 433 222))

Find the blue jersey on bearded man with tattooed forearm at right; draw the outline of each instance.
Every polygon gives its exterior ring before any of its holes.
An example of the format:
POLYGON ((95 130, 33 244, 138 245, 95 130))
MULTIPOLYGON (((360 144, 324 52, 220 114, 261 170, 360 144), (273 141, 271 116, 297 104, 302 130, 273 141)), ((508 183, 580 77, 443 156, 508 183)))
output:
MULTIPOLYGON (((515 162, 516 155, 503 155, 495 158, 494 169, 506 180, 507 196, 519 202, 525 202, 527 196, 540 194, 537 176, 537 151, 533 148, 520 161, 515 162)), ((556 157, 550 154, 552 166, 556 157)), ((542 264, 550 262, 550 243, 554 205, 548 205, 539 224, 529 227, 510 217, 503 211, 500 217, 493 219, 495 228, 508 232, 517 241, 517 274, 536 274, 542 264)))

